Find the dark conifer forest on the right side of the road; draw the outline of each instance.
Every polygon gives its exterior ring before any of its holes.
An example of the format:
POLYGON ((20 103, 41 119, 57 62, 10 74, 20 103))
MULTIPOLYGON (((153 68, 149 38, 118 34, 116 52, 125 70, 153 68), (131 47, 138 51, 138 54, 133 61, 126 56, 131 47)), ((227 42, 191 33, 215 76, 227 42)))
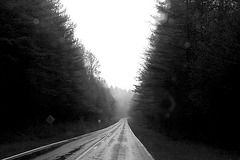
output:
POLYGON ((156 7, 131 116, 174 139, 239 150, 240 2, 156 7))

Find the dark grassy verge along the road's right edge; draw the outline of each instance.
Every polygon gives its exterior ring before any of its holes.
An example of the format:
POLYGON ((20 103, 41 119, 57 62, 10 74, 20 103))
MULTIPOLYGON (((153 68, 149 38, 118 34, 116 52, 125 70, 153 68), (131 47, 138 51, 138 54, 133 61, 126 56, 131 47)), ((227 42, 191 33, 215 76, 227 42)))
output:
POLYGON ((155 160, 240 160, 240 155, 188 141, 174 141, 129 122, 136 137, 155 160))

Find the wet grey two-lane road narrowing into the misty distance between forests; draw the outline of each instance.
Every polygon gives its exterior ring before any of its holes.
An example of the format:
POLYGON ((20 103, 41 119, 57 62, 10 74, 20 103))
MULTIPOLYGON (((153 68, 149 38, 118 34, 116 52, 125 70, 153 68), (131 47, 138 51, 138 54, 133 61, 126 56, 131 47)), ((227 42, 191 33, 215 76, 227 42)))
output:
MULTIPOLYGON (((39 151, 38 151, 39 152, 39 151)), ((127 119, 54 147, 34 160, 153 160, 131 131, 127 119)), ((28 155, 29 156, 29 155, 28 155)), ((23 158, 24 159, 24 158, 23 158)))

